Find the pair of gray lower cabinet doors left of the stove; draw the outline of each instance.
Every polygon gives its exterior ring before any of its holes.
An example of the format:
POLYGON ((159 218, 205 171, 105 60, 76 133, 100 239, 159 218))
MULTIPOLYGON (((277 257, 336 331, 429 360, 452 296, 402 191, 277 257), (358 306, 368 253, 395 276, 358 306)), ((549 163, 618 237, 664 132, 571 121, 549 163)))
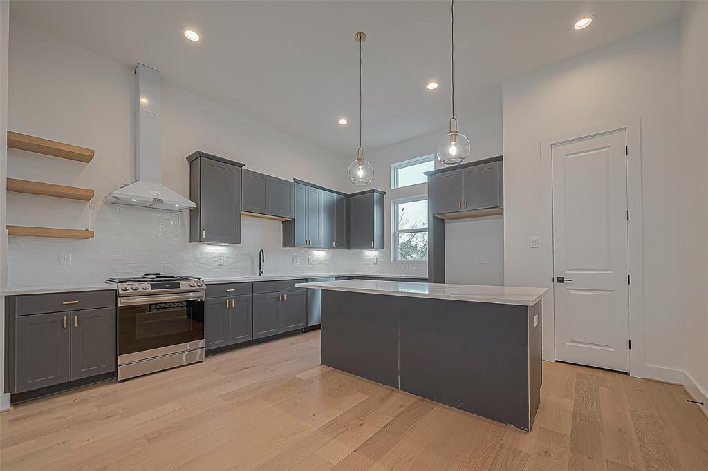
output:
POLYGON ((115 308, 15 318, 15 392, 115 371, 115 358, 115 308))

